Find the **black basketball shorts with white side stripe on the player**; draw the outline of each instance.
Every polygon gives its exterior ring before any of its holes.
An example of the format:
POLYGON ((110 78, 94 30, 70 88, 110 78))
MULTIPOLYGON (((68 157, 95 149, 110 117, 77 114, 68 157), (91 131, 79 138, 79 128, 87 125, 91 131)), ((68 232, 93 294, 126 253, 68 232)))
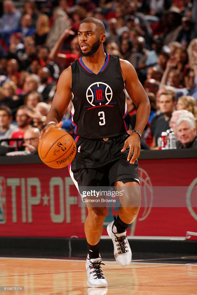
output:
POLYGON ((127 161, 129 148, 121 152, 129 134, 90 140, 72 135, 76 157, 69 165, 70 176, 79 191, 81 186, 113 186, 116 181, 139 183, 138 161, 127 161))

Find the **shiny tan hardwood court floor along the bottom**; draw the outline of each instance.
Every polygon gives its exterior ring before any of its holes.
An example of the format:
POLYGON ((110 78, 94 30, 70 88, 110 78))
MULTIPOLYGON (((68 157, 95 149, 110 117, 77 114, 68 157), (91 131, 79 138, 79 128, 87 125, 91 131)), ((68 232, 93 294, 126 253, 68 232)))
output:
POLYGON ((84 260, 0 258, 1 295, 196 295, 197 265, 105 262, 108 289, 87 286, 84 260))

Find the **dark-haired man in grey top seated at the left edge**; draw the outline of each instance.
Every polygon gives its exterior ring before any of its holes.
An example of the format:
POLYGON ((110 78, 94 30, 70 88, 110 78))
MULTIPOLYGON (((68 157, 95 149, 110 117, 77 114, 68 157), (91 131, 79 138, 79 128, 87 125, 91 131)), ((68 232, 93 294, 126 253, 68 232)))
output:
POLYGON ((11 124, 12 111, 7 106, 0 106, 0 140, 10 138, 12 133, 18 128, 11 124))

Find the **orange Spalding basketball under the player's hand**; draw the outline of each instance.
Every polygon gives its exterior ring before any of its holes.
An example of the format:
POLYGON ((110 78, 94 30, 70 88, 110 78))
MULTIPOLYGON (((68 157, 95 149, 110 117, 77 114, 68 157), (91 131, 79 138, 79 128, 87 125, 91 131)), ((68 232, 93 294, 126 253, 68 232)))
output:
POLYGON ((38 145, 40 159, 51 168, 69 165, 76 155, 76 143, 72 136, 62 130, 46 133, 38 145))

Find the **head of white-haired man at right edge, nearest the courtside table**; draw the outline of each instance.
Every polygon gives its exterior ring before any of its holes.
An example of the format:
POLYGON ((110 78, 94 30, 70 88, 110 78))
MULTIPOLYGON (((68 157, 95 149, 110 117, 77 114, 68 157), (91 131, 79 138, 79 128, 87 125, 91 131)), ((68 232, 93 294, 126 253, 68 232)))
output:
POLYGON ((197 148, 196 127, 190 118, 181 117, 176 123, 177 148, 197 148))

